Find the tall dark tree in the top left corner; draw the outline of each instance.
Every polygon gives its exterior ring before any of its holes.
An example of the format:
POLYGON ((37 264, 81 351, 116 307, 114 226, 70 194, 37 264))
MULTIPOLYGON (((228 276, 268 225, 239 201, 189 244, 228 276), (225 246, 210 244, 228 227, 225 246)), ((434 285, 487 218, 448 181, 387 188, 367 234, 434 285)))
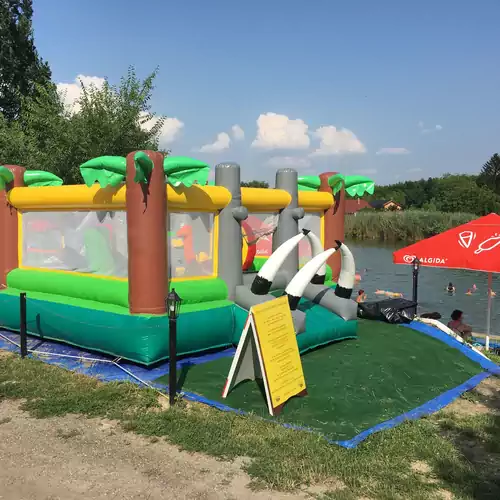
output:
POLYGON ((7 121, 19 117, 25 97, 52 85, 51 71, 33 40, 32 0, 0 0, 0 112, 7 121))

